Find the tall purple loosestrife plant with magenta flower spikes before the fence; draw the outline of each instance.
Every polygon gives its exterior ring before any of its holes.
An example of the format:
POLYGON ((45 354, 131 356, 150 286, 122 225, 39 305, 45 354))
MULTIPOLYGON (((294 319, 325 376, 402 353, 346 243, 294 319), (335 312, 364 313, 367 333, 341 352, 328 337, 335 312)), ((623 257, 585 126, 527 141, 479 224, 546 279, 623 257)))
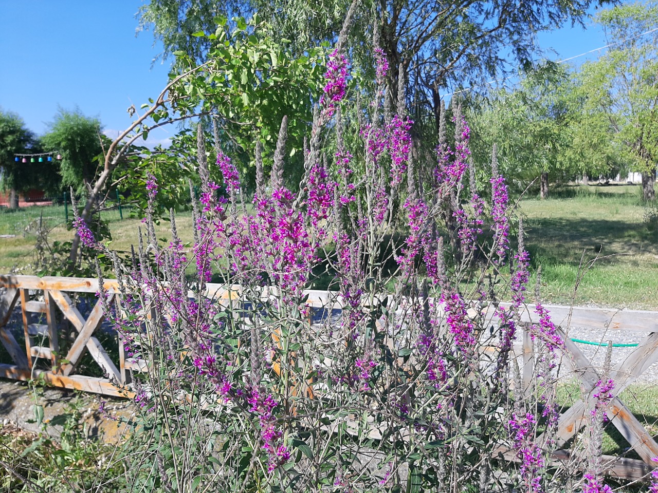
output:
MULTIPOLYGON (((256 148, 251 208, 231 156, 216 139, 209 160, 199 125, 193 246, 173 212, 168 245, 157 239, 152 205, 165 184, 151 178, 139 245, 128 260, 113 254, 120 293, 106 310, 142 370, 131 373, 139 425, 123 458, 133 490, 603 490, 598 473, 583 478, 549 458, 563 341, 539 293, 540 321, 520 324, 529 257, 522 223, 511 248, 495 149, 488 193, 453 103, 451 122, 440 115, 432 172, 421 174, 403 81, 392 101, 375 40, 376 91, 356 106, 343 39, 298 188, 284 179, 286 118, 270 170, 256 148), (355 126, 359 145, 348 147, 355 126), (333 279, 324 310, 305 293, 318 268, 333 279), (522 331, 537 348, 525 388, 514 351, 522 331)), ((607 392, 602 384, 593 412, 607 392)))

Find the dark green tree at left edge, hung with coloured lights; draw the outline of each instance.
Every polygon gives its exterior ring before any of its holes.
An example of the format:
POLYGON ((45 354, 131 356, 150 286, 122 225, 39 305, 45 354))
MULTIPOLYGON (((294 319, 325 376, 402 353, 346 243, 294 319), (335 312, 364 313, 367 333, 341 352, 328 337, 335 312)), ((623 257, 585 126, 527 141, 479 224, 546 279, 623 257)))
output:
POLYGON ((60 181, 55 161, 16 161, 14 154, 39 153, 39 141, 25 128, 23 120, 13 112, 0 110, 0 187, 9 191, 9 207, 18 207, 18 194, 31 188, 47 192, 59 190, 60 181))

